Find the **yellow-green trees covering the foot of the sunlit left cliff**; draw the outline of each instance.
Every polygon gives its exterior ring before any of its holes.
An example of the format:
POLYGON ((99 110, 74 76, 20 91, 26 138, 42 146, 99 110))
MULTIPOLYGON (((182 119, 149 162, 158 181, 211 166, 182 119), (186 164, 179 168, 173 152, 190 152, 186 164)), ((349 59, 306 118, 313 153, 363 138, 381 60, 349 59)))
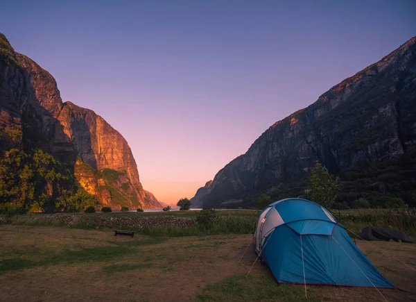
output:
POLYGON ((51 154, 10 149, 0 159, 0 203, 34 212, 76 212, 95 205, 96 200, 51 154))

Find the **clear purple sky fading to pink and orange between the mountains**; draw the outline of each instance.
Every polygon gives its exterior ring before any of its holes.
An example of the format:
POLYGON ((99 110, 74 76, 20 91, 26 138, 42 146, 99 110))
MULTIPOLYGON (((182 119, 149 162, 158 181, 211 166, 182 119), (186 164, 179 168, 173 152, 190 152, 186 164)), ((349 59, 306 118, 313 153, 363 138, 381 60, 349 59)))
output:
POLYGON ((416 1, 1 1, 0 32, 191 198, 266 129, 416 35, 416 1), (61 3, 65 2, 65 3, 61 3))

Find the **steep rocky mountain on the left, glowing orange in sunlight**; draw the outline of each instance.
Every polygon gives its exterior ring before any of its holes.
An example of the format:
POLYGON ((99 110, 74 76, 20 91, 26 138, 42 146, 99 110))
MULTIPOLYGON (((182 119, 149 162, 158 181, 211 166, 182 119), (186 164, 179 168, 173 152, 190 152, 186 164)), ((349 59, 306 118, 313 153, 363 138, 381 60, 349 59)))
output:
MULTIPOLYGON (((19 188, 13 191, 6 185, 1 187, 0 182, 0 196, 3 192, 5 199, 20 200, 27 206, 31 199, 43 204, 48 196, 56 199, 81 190, 85 196, 89 194, 101 205, 112 208, 160 206, 155 196, 143 189, 135 158, 124 137, 94 111, 69 101, 63 103, 53 76, 30 58, 15 52, 3 34, 0 34, 0 80, 3 169, 16 169, 19 173, 26 169, 10 164, 10 152, 16 150, 23 152, 22 158, 32 158, 35 152, 41 152, 62 166, 60 173, 58 166, 49 164, 32 167, 35 170, 28 174, 28 183, 33 189, 27 192, 17 192, 19 188), (59 174, 59 179, 52 176, 49 176, 52 180, 47 179, 45 173, 59 174), (61 176, 69 184, 63 185, 61 176)), ((33 158, 26 160, 25 165, 29 167, 32 162, 33 158)), ((11 177, 6 183, 19 181, 11 177)), ((61 199, 55 204, 57 208, 65 204, 61 199)))

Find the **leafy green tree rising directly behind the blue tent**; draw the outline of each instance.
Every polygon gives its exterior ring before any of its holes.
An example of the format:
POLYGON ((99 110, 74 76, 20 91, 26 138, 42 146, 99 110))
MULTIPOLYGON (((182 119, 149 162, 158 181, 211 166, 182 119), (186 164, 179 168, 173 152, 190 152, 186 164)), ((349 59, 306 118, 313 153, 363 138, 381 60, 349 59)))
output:
POLYGON ((322 207, 330 209, 335 203, 338 193, 338 181, 338 177, 335 178, 327 168, 317 161, 309 176, 311 192, 308 193, 308 198, 319 203, 322 207))

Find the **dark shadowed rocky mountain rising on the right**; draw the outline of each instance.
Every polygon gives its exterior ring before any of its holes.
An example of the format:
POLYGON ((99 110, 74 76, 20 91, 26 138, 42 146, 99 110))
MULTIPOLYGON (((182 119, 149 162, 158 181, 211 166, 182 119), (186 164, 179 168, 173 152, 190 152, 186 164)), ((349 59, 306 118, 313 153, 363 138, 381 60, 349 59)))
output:
POLYGON ((318 160, 346 180, 351 190, 345 192, 401 194, 416 204, 415 144, 413 37, 311 106, 270 126, 245 154, 218 171, 198 200, 207 207, 235 207, 249 205, 261 193, 276 199, 302 194, 309 169, 318 160))

